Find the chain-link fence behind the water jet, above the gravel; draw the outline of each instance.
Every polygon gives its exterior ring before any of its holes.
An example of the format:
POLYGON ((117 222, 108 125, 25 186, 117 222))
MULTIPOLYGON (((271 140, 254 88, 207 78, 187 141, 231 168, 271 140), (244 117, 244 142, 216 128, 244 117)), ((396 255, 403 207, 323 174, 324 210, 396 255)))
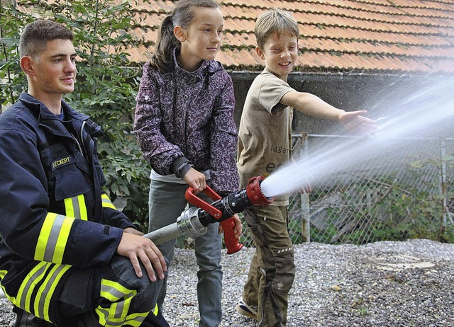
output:
MULTIPOLYGON (((293 159, 314 156, 326 144, 336 148, 342 141, 332 135, 294 134, 293 159)), ((358 164, 318 180, 309 194, 291 193, 289 234, 295 244, 454 241, 454 139, 393 142, 399 144, 394 151, 372 142, 358 164)), ((253 246, 247 225, 241 241, 253 246)))

